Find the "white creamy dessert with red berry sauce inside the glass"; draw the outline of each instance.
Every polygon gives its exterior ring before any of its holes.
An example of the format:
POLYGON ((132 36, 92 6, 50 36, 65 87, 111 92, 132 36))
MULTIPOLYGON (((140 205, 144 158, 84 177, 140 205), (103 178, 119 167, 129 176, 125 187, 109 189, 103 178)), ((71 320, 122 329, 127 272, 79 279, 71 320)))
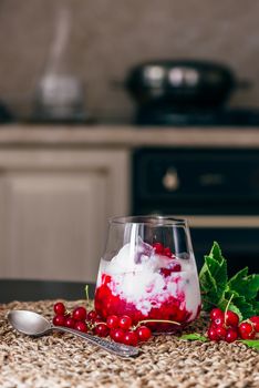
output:
POLYGON ((174 333, 194 320, 199 308, 193 256, 175 256, 160 243, 152 246, 138 237, 137 243, 125 244, 110 262, 101 259, 95 309, 102 318, 126 314, 134 323, 151 320, 154 331, 174 333))

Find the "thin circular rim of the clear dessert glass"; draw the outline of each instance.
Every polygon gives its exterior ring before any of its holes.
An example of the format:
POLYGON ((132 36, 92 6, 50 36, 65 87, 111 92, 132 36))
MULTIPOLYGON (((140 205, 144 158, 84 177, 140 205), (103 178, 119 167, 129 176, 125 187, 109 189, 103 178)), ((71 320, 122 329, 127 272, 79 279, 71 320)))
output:
POLYGON ((125 225, 148 225, 148 226, 187 226, 187 218, 175 217, 174 215, 133 215, 133 216, 115 216, 108 218, 108 223, 125 225))

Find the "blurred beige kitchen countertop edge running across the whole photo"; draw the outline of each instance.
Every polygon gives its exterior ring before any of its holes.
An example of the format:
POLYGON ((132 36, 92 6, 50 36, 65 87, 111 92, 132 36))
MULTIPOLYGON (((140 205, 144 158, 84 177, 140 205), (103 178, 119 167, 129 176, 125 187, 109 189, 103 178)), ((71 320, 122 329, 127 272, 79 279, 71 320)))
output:
POLYGON ((133 125, 0 126, 0 147, 259 147, 259 127, 137 127, 133 125))

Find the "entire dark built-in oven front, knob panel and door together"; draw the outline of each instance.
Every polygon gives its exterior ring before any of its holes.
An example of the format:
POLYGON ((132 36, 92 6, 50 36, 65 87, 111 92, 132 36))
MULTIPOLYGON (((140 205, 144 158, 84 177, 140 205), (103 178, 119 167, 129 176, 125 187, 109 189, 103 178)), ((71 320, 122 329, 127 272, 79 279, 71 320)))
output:
POLYGON ((136 150, 132 212, 187 218, 199 268, 217 241, 229 275, 259 272, 257 150, 136 150))

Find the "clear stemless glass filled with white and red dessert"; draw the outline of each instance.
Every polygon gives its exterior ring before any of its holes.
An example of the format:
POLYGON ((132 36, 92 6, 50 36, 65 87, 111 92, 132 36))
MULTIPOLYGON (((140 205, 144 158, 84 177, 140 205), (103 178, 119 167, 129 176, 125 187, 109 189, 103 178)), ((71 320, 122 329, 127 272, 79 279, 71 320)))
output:
POLYGON ((175 333, 200 310, 200 290, 186 219, 172 216, 110 221, 100 262, 95 309, 127 315, 154 333, 175 333))

